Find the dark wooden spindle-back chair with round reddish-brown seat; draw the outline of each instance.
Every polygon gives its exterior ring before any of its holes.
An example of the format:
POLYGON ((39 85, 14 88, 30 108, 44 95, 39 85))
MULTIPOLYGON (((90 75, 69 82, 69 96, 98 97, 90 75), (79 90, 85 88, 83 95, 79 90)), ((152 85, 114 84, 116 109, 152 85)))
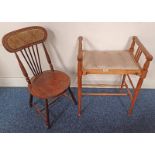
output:
POLYGON ((49 128, 49 98, 57 99, 59 96, 68 96, 66 91, 68 90, 72 100, 75 102, 75 98, 70 89, 70 78, 68 75, 61 71, 54 70, 51 63, 49 54, 45 47, 44 42, 47 39, 47 31, 43 27, 33 26, 22 28, 6 34, 3 37, 3 46, 10 53, 14 53, 23 75, 28 83, 28 90, 30 92, 30 107, 34 106, 37 112, 39 112, 45 119, 46 125, 49 128), (40 60, 40 48, 45 52, 47 62, 50 70, 42 70, 40 60), (30 68, 33 77, 29 78, 26 71, 26 66, 22 62, 25 60, 30 68), (33 96, 43 99, 45 101, 45 108, 40 109, 33 103, 33 96))

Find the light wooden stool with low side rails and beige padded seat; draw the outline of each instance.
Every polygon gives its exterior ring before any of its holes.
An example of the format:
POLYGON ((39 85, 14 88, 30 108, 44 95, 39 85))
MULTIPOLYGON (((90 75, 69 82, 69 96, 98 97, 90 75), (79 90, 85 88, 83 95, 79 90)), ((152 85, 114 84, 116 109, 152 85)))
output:
POLYGON ((124 51, 87 51, 82 48, 83 37, 79 37, 79 49, 78 49, 78 115, 81 114, 81 100, 82 96, 126 96, 129 95, 131 99, 131 106, 128 114, 131 115, 135 101, 141 89, 143 80, 145 79, 150 61, 152 61, 152 55, 143 46, 140 40, 134 36, 132 39, 131 47, 124 51), (137 49, 136 49, 137 46, 137 49), (144 56, 145 61, 143 65, 140 64, 141 56, 144 56), (87 74, 119 74, 122 75, 122 82, 118 86, 122 89, 125 87, 127 93, 82 93, 82 86, 116 86, 108 84, 83 84, 82 76, 87 74), (136 87, 133 85, 130 75, 137 75, 139 77, 136 87), (132 88, 133 95, 126 82, 128 78, 132 88))

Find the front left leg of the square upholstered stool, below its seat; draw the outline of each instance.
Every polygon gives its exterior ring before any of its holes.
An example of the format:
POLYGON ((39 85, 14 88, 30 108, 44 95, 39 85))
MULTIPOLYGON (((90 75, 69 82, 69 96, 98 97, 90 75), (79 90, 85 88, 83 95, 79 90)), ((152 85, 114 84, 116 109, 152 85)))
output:
POLYGON ((81 115, 82 75, 78 73, 78 116, 81 115))

